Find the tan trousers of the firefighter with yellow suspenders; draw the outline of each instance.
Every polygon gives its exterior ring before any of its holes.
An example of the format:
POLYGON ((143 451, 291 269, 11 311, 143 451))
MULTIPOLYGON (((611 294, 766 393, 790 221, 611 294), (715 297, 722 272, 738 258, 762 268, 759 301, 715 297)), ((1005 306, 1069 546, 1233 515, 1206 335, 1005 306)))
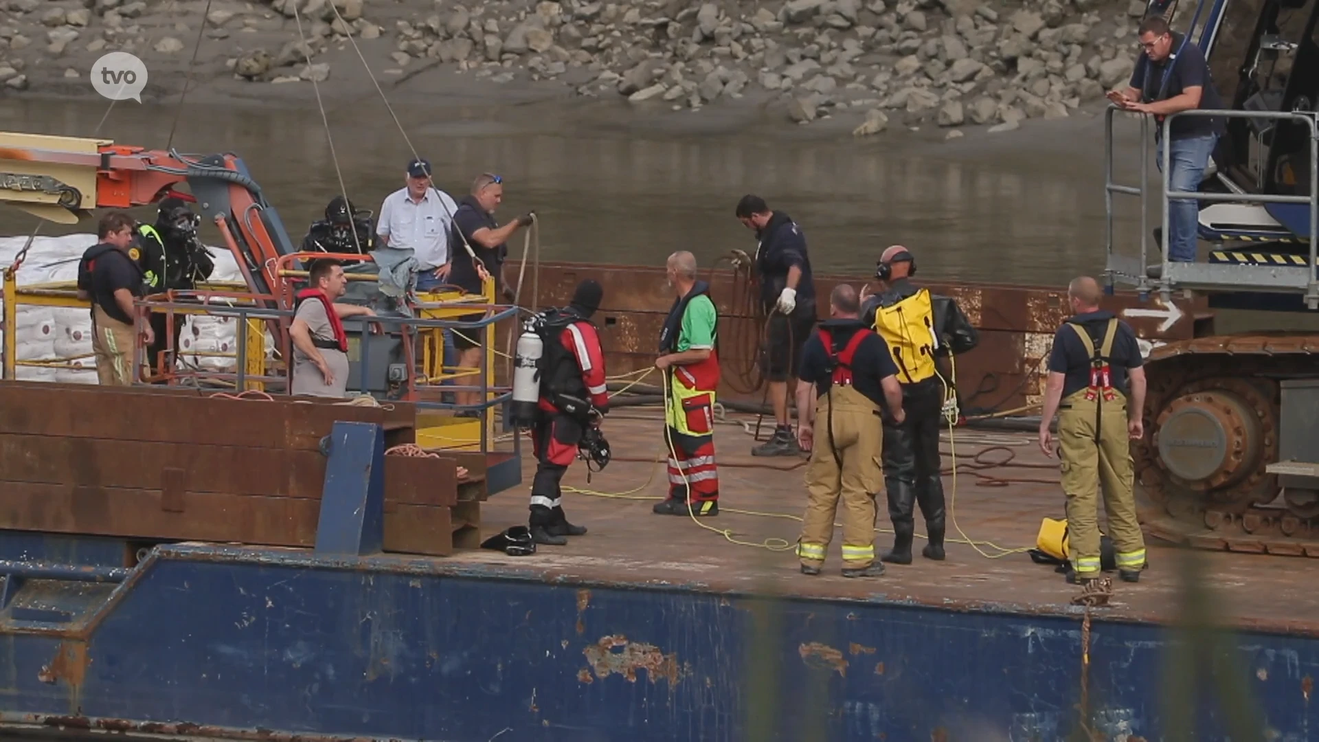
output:
POLYGON ((1062 486, 1067 494, 1068 557, 1078 577, 1099 574, 1099 492, 1103 489, 1117 568, 1145 566, 1145 536, 1136 520, 1132 449, 1126 436, 1126 397, 1087 400, 1086 389, 1068 395, 1058 416, 1062 486), (1100 404, 1099 441, 1095 413, 1100 404))

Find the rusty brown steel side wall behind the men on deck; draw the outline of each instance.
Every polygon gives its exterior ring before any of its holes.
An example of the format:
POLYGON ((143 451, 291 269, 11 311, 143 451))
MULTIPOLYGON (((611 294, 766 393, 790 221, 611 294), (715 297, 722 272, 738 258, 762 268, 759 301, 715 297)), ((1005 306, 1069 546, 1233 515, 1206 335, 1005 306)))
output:
MULTIPOLYGON (((509 265, 516 276, 520 264, 509 265)), ((528 276, 532 265, 528 267, 528 276)), ((748 297, 754 289, 745 272, 724 265, 704 268, 700 277, 710 281, 711 296, 720 312, 719 353, 723 366, 720 395, 728 400, 760 403, 764 384, 753 371, 757 342, 764 333, 764 318, 753 312, 748 297)), ((623 375, 650 367, 654 345, 673 304, 671 289, 665 283, 662 267, 601 265, 588 263, 539 263, 539 280, 533 297, 530 279, 522 288, 522 305, 543 308, 563 305, 572 289, 584 279, 604 287, 604 302, 595 321, 611 375, 623 375)), ((828 317, 828 293, 835 285, 848 283, 861 287, 865 275, 815 276, 816 308, 820 318, 828 317)), ((1043 367, 1053 343, 1054 330, 1071 314, 1066 287, 1043 288, 983 283, 921 281, 933 292, 955 297, 971 322, 980 330, 980 346, 956 359, 956 384, 964 411, 1001 412, 1039 401, 1043 389, 1043 367)), ((1212 333, 1213 314, 1204 298, 1174 298, 1170 305, 1141 301, 1134 292, 1117 292, 1104 306, 1120 314, 1145 343, 1142 351, 1167 342, 1191 339, 1212 333)), ((506 330, 505 330, 506 331, 506 330)), ((500 347, 506 342, 501 338, 500 347)))

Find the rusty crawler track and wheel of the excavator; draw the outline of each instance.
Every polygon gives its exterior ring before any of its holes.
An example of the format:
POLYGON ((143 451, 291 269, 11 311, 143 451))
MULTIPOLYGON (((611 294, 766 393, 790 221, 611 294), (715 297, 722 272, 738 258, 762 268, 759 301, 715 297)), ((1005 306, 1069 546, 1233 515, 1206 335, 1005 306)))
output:
POLYGON ((1319 557, 1319 500, 1286 496, 1278 461, 1283 379, 1319 378, 1319 334, 1217 335, 1155 347, 1145 436, 1132 446, 1141 522, 1195 548, 1319 557))

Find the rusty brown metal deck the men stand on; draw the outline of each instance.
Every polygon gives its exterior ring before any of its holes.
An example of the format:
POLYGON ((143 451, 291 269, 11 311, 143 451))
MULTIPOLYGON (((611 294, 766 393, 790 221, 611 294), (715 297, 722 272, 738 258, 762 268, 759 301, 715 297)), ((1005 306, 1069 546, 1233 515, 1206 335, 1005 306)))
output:
MULTIPOLYGON (((666 489, 662 465, 634 458, 658 453, 662 445, 660 422, 636 420, 654 417, 641 409, 620 409, 609 416, 607 434, 615 461, 586 483, 578 462, 565 477, 565 487, 599 492, 627 492, 649 482, 632 496, 658 498, 666 489), (628 417, 628 420, 624 420, 628 417), (625 458, 627 461, 621 461, 625 458), (654 477, 652 477, 654 473, 654 477)), ((739 420, 754 420, 743 416, 739 420)), ((1028 433, 985 433, 958 429, 952 440, 958 453, 956 498, 951 458, 943 457, 944 496, 956 524, 975 541, 991 541, 1004 548, 1030 548, 1042 518, 1063 518, 1062 491, 1057 486, 1057 459, 1046 459, 1028 433), (979 458, 977 458, 979 457, 979 458), (1010 461, 1009 461, 1010 459, 1010 461), (1008 461, 1005 466, 984 467, 984 462, 1008 461), (1026 481, 1021 481, 1026 479, 1026 481), (1005 482, 1006 481, 1006 482, 1005 482)), ((806 459, 752 457, 752 438, 737 425, 721 425, 716 432, 716 455, 721 463, 720 515, 702 523, 731 529, 741 541, 761 544, 766 539, 795 543, 799 523, 781 516, 801 518, 806 491, 805 466, 783 471, 806 459), (735 512, 774 514, 765 518, 735 512)), ((950 452, 948 434, 942 446, 950 452)), ((530 482, 536 462, 524 459, 522 481, 530 482)), ((586 536, 570 539, 567 547, 539 547, 532 557, 508 557, 491 551, 462 551, 452 560, 475 566, 499 565, 530 570, 539 578, 588 580, 607 584, 699 586, 712 590, 770 593, 803 598, 849 598, 898 601, 940 609, 989 609, 1038 615, 1079 615, 1070 599, 1076 588, 1063 582, 1054 568, 1038 565, 1025 553, 985 558, 964 543, 950 543, 947 560, 933 562, 915 557, 909 566, 888 565, 882 577, 848 580, 839 574, 839 532, 831 544, 824 574, 807 577, 797 569, 791 552, 770 552, 735 545, 720 533, 700 528, 690 516, 660 516, 650 512, 654 499, 611 499, 565 491, 570 520, 587 525, 586 536)), ((481 511, 483 536, 526 522, 526 502, 518 491, 492 498, 481 511)), ((877 525, 890 527, 881 502, 877 525)), ((950 519, 950 541, 964 540, 950 519)), ((917 518, 917 532, 923 525, 917 518)), ((892 535, 877 535, 876 545, 886 549, 892 535)), ((1113 598, 1100 609, 1105 618, 1165 622, 1174 614, 1182 585, 1175 568, 1178 548, 1146 536, 1150 569, 1136 585, 1113 576, 1113 598)), ((778 544, 781 545, 781 543, 778 544)), ((917 547, 921 545, 918 539, 917 547)), ((987 544, 981 551, 1002 555, 987 544)), ((1319 597, 1312 585, 1319 565, 1260 555, 1199 553, 1213 580, 1224 609, 1241 627, 1302 632, 1319 636, 1319 597)))

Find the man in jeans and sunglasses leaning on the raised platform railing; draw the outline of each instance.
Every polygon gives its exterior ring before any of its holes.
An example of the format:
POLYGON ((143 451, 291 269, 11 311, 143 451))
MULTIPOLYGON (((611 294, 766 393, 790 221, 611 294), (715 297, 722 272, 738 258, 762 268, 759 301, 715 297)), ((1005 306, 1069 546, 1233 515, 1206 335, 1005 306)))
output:
MULTIPOLYGON (((1141 21, 1137 32, 1141 55, 1126 90, 1109 91, 1108 99, 1124 111, 1150 114, 1159 123, 1155 131, 1158 166, 1163 168, 1163 147, 1169 147, 1169 187, 1174 191, 1200 189, 1204 169, 1213 156, 1213 147, 1223 133, 1223 121, 1213 116, 1181 116, 1170 127, 1170 143, 1163 141, 1163 119, 1191 110, 1223 108, 1213 87, 1210 66, 1200 48, 1183 34, 1173 33, 1167 21, 1151 16, 1141 21)), ((1199 203, 1174 199, 1169 203, 1167 257, 1194 263, 1199 203)))

